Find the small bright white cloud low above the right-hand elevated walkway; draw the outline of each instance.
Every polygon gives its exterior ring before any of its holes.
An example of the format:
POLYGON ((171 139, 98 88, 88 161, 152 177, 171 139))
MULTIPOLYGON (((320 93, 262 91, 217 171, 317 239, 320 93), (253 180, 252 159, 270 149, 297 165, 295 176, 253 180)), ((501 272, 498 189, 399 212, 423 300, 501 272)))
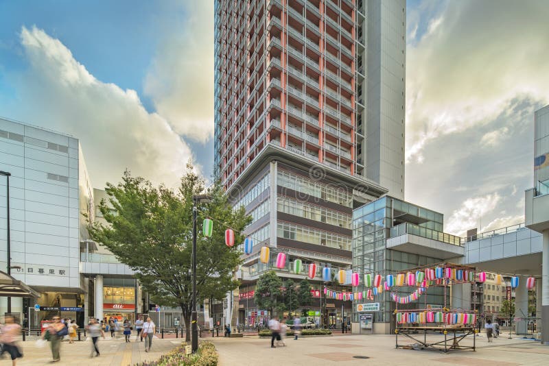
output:
POLYGON ((492 212, 501 199, 498 193, 466 199, 460 208, 452 212, 444 231, 458 236, 465 236, 467 230, 476 228, 479 219, 492 212))

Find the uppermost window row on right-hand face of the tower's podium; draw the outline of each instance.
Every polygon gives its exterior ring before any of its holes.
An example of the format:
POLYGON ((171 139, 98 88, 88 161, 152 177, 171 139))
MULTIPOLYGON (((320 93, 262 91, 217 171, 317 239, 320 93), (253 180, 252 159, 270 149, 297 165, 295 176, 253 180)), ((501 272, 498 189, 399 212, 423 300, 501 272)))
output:
MULTIPOLYGON (((318 169, 318 175, 322 175, 323 172, 320 171, 322 168, 318 167, 318 169)), ((312 172, 311 175, 314 175, 314 173, 312 172)), ((290 188, 294 191, 305 193, 312 197, 318 197, 324 199, 325 201, 334 202, 347 207, 353 206, 353 194, 347 192, 345 188, 338 186, 338 184, 335 183, 320 183, 317 180, 311 180, 303 177, 303 175, 294 174, 284 170, 279 170, 277 183, 279 186, 290 188)))

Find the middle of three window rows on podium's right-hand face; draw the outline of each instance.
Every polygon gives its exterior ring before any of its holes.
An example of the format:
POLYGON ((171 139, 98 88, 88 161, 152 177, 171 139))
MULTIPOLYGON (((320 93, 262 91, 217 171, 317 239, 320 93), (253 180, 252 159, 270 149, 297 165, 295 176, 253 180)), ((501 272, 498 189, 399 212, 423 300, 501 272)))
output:
POLYGON ((309 202, 298 201, 290 197, 279 196, 277 210, 346 229, 351 228, 351 215, 315 204, 309 204, 309 202))

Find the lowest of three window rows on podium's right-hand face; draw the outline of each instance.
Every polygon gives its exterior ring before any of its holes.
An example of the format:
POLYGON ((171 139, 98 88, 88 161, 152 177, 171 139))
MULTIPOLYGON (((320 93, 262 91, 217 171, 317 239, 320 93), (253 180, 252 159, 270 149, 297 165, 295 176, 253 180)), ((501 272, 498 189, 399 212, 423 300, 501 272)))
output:
POLYGON ((351 250, 351 237, 326 232, 306 226, 296 225, 285 221, 279 221, 277 224, 277 236, 279 238, 302 241, 316 245, 325 245, 343 250, 351 250))

